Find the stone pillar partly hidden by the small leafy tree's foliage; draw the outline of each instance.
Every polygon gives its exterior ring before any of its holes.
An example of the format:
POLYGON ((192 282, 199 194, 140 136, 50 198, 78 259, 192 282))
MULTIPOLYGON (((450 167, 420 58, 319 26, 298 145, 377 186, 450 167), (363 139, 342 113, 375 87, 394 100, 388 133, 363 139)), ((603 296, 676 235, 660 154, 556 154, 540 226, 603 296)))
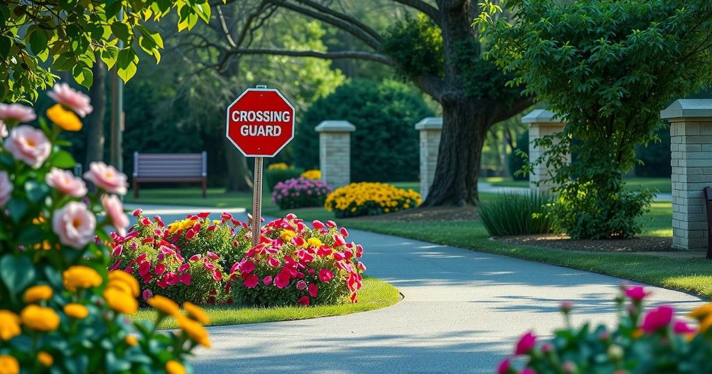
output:
MULTIPOLYGON (((537 160, 545 151, 546 148, 534 147, 533 142, 546 135, 554 135, 564 130, 565 122, 562 122, 555 113, 545 109, 532 110, 528 115, 522 118, 522 123, 529 124, 529 160, 537 160)), ((571 162, 571 156, 568 157, 568 162, 571 162)), ((515 170, 512 170, 515 172, 515 170)), ((553 177, 556 170, 553 167, 547 167, 546 162, 541 162, 535 165, 534 170, 529 175, 529 187, 538 189, 542 192, 550 192, 556 187, 553 182, 541 182, 537 187, 537 182, 553 177)))

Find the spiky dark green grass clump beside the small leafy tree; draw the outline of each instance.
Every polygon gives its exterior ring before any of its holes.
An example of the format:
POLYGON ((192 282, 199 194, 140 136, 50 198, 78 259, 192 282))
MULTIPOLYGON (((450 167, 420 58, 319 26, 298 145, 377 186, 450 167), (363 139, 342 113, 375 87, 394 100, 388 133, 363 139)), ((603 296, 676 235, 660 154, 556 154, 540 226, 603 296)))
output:
POLYGON ((480 205, 480 218, 493 237, 555 232, 548 212, 555 197, 542 192, 502 192, 480 205))

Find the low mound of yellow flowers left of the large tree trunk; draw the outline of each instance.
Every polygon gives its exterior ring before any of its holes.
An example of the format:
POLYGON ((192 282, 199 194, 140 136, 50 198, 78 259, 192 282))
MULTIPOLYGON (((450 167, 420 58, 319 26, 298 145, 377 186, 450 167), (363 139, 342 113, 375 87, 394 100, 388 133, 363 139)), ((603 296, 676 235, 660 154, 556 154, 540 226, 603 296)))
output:
POLYGON ((420 194, 387 183, 360 182, 337 188, 324 207, 337 218, 375 216, 399 212, 420 205, 420 194))

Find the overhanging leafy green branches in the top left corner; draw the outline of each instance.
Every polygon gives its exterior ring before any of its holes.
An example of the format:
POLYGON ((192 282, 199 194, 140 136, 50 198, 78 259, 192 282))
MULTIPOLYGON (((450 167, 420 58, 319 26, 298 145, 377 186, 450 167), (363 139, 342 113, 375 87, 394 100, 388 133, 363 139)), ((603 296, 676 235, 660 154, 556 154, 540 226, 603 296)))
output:
POLYGON ((97 58, 129 80, 136 73, 137 51, 160 60, 163 40, 147 24, 177 12, 178 29, 207 22, 207 0, 43 0, 0 3, 0 101, 36 100, 57 76, 71 71, 90 87, 97 58), (122 46, 125 45, 125 47, 122 46))

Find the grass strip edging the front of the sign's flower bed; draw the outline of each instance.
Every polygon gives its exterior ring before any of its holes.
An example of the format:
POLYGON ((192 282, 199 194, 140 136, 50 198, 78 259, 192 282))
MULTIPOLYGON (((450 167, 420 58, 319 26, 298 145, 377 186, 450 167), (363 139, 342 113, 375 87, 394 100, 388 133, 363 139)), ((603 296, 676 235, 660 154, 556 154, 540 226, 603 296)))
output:
MULTIPOLYGON (((375 278, 365 277, 363 288, 359 292, 358 303, 344 303, 330 306, 286 306, 282 308, 230 308, 214 307, 206 308, 205 311, 210 317, 209 326, 239 325, 243 323, 293 321, 298 319, 317 318, 326 316, 341 316, 344 314, 356 313, 360 311, 372 311, 374 309, 392 306, 400 301, 398 290, 384 281, 375 278)), ((150 320, 155 321, 157 312, 155 310, 141 309, 130 316, 133 321, 150 320)), ((159 325, 160 328, 176 328, 174 318, 166 318, 159 325)))

